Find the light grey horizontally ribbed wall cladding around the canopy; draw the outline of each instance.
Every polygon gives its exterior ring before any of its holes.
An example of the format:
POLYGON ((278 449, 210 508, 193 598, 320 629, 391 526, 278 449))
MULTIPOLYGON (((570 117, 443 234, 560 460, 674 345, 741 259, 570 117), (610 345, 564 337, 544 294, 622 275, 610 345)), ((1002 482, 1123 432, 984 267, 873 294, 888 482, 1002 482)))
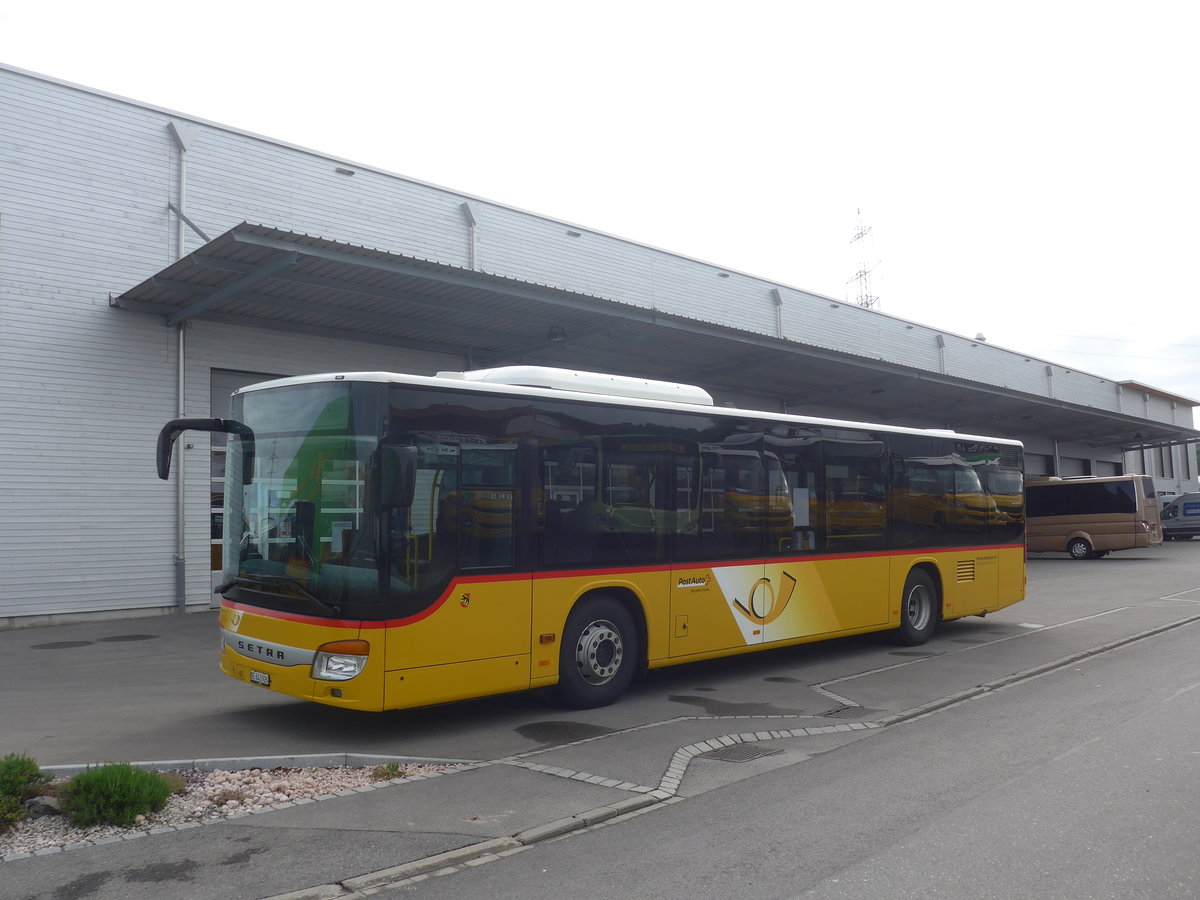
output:
MULTIPOLYGON (((190 126, 186 212, 209 236, 250 221, 461 266, 463 204, 478 268, 776 335, 776 286, 584 228, 347 164, 0 66, 0 625, 172 608, 175 490, 154 439, 176 414, 176 334, 110 308, 180 253, 172 121, 190 126), (355 174, 338 173, 350 168, 355 174)), ((182 252, 203 239, 184 232, 182 252)), ((802 290, 780 288, 784 336, 1103 409, 1178 421, 1157 397, 1055 370, 802 290)), ((208 415, 212 370, 433 372, 463 360, 194 323, 185 414, 208 415)), ((1190 414, 1190 410, 1186 410, 1190 414)), ((187 600, 209 602, 209 443, 190 436, 187 600)))

